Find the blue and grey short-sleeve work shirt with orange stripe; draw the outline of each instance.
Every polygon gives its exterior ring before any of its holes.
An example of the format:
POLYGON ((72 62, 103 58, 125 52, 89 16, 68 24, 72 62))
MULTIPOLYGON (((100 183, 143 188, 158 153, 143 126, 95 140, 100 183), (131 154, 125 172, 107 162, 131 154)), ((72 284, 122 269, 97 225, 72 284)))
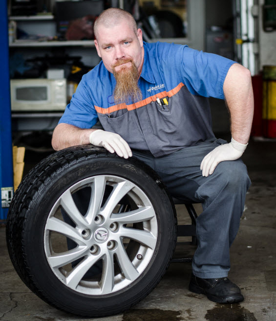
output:
POLYGON ((144 50, 141 101, 116 105, 115 78, 100 62, 83 76, 59 123, 91 128, 100 120, 130 148, 155 157, 214 139, 207 97, 224 99, 224 80, 235 62, 168 43, 144 42, 144 50))

